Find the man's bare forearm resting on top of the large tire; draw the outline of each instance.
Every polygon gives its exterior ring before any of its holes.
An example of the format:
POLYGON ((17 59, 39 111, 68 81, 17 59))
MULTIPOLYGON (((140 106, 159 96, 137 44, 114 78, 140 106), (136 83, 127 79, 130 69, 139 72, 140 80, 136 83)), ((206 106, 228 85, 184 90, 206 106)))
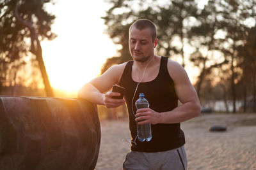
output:
POLYGON ((103 97, 104 94, 102 94, 91 83, 86 83, 78 92, 78 98, 87 99, 95 104, 103 105, 103 97))

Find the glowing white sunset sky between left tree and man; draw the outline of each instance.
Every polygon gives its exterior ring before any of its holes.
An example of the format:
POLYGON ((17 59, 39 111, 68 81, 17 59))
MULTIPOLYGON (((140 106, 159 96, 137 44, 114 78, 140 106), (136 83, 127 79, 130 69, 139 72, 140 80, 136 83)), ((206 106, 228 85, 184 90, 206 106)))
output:
POLYGON ((46 10, 56 15, 52 41, 42 41, 43 57, 54 89, 77 91, 100 74, 108 57, 116 53, 115 45, 104 34, 104 16, 108 4, 103 0, 58 0, 46 10), (71 3, 72 2, 72 3, 71 3))

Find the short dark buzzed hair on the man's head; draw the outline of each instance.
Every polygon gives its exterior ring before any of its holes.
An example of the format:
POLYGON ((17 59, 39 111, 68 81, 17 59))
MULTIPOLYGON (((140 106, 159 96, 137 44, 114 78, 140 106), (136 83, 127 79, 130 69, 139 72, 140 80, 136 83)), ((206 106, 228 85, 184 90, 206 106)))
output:
POLYGON ((151 31, 152 41, 154 42, 154 40, 156 39, 157 29, 156 29, 156 25, 152 21, 147 19, 136 20, 134 23, 132 23, 132 25, 129 28, 129 35, 132 27, 136 27, 136 29, 139 29, 139 30, 149 28, 151 31))

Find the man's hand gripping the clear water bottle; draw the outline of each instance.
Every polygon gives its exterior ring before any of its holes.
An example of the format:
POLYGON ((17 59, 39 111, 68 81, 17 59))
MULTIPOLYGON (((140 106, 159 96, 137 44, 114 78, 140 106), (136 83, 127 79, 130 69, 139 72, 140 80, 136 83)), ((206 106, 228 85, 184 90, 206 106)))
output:
POLYGON ((135 121, 138 122, 139 125, 159 124, 160 115, 161 114, 150 108, 140 109, 136 112, 135 121))

